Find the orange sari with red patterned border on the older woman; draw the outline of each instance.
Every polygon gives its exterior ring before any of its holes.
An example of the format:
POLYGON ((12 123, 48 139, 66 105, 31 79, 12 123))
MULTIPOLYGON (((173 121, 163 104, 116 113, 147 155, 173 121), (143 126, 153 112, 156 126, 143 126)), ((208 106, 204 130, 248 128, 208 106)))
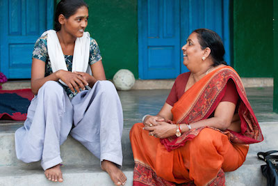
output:
POLYGON ((224 185, 224 171, 245 161, 249 146, 263 135, 236 71, 224 66, 209 73, 186 91, 172 108, 173 123, 208 118, 225 94, 229 79, 240 96, 241 132, 200 127, 181 137, 156 139, 136 123, 130 132, 135 167, 133 185, 224 185))

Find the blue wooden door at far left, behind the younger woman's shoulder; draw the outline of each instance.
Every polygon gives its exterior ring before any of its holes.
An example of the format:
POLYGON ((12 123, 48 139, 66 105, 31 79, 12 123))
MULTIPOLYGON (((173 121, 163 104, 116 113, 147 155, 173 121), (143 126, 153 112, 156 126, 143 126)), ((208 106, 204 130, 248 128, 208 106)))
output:
POLYGON ((31 77, 35 41, 52 28, 54 0, 0 0, 0 71, 9 79, 31 77))

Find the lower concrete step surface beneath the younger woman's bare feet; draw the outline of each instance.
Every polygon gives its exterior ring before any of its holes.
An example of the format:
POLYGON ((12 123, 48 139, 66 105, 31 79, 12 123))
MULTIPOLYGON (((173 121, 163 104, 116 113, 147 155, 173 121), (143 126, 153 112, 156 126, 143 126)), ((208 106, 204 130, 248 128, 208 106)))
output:
MULTIPOLYGON (((260 166, 264 162, 259 161, 254 155, 247 155, 247 160, 236 171, 225 173, 227 186, 261 186, 266 185, 266 179, 261 174, 260 166)), ((68 165, 62 166, 63 183, 58 185, 113 185, 108 174, 99 168, 99 165, 68 165)), ((126 175, 126 186, 132 185, 133 164, 122 168, 126 175)), ((55 185, 44 177, 40 168, 24 167, 18 169, 13 166, 0 167, 0 186, 28 186, 28 185, 55 185)))

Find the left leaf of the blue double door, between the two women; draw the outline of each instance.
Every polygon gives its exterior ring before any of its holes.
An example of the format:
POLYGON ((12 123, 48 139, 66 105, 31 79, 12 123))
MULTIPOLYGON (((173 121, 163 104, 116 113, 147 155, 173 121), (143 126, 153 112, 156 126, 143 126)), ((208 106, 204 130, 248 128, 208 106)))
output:
POLYGON ((138 1, 138 54, 141 79, 179 75, 179 1, 138 1))

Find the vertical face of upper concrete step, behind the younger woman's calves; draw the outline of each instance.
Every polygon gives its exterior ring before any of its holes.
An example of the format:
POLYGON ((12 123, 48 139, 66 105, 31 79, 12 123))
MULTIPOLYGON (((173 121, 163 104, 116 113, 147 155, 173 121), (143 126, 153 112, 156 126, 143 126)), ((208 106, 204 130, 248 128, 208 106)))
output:
MULTIPOLYGON (((21 124, 0 125, 0 166, 31 166, 39 167, 38 162, 31 164, 24 164, 17 160, 15 155, 15 130, 22 126, 21 124)), ((133 163, 133 155, 131 144, 129 141, 129 128, 124 128, 122 134, 122 150, 124 164, 133 163)), ((249 154, 256 155, 260 151, 267 151, 278 149, 278 122, 261 123, 261 130, 265 137, 264 141, 259 144, 251 144, 249 154)), ((65 164, 99 164, 99 159, 92 155, 83 145, 78 141, 69 137, 60 149, 63 163, 65 164)))

